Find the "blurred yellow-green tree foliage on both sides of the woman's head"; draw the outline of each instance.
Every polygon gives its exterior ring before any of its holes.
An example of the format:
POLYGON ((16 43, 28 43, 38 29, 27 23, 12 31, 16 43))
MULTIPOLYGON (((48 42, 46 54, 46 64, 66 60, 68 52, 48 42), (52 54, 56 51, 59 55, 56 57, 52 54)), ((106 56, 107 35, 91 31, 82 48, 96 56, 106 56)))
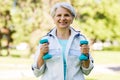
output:
POLYGON ((27 42, 31 49, 54 27, 50 8, 56 2, 67 1, 76 10, 74 27, 92 40, 120 42, 119 0, 0 0, 0 28, 12 26, 13 44, 27 42), (6 11, 10 19, 5 18, 6 11), (7 22, 7 24, 6 24, 7 22))

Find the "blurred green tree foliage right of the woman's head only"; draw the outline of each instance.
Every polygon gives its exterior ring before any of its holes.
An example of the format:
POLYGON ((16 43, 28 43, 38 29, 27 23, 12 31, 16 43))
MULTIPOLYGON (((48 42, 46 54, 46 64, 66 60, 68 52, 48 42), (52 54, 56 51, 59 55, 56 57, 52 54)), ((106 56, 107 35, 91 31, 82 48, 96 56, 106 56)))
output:
POLYGON ((84 33, 93 39, 120 41, 119 0, 73 0, 77 20, 84 33), (107 32, 107 33, 106 33, 107 32))

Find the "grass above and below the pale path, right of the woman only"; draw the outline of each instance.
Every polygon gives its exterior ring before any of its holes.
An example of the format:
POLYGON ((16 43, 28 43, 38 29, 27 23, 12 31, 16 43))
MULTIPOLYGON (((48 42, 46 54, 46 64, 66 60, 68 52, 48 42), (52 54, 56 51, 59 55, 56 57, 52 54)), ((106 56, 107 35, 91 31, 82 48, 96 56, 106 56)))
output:
MULTIPOLYGON (((119 51, 94 51, 92 52, 94 65, 119 65, 120 67, 120 52, 119 51)), ((117 67, 117 66, 116 66, 117 67)), ((86 80, 120 80, 120 70, 113 74, 91 72, 85 76, 86 80)))

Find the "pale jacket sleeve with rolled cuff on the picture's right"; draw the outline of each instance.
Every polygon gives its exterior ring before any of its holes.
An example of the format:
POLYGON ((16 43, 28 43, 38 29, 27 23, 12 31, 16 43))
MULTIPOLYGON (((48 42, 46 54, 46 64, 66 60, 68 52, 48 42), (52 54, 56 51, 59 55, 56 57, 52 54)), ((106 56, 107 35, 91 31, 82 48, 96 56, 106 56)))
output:
POLYGON ((85 67, 81 66, 82 72, 85 75, 88 75, 91 72, 91 70, 93 69, 93 67, 94 67, 94 65, 93 65, 93 58, 91 56, 89 56, 89 60, 90 60, 90 64, 89 64, 88 68, 85 68, 85 67))

